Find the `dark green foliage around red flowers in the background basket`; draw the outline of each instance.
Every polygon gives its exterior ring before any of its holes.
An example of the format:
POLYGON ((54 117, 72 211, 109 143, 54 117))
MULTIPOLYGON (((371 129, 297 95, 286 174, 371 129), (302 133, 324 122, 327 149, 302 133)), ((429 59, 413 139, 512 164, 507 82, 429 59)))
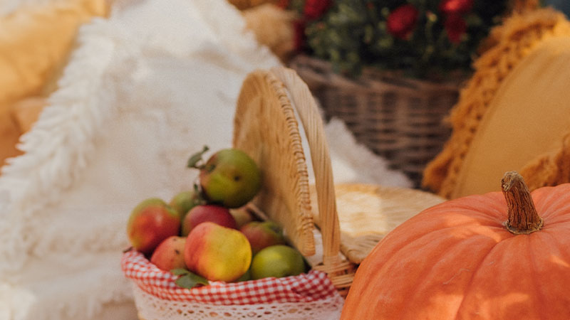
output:
MULTIPOLYGON (((296 2, 296 9, 302 5, 296 2)), ((302 2, 302 1, 301 1, 302 2)), ((337 73, 358 75, 365 66, 404 70, 417 78, 441 78, 450 70, 471 68, 477 48, 490 28, 500 23, 507 1, 475 0, 462 14, 467 29, 452 43, 445 29, 440 0, 336 0, 323 16, 308 21, 306 47, 332 63, 337 73), (398 6, 412 4, 418 20, 409 38, 388 32, 386 20, 398 6)))

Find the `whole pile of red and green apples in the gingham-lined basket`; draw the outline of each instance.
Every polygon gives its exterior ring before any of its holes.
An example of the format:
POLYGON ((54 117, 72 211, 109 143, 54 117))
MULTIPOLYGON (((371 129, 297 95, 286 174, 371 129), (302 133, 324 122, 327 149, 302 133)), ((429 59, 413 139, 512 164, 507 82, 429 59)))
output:
POLYGON ((301 253, 287 245, 283 230, 247 210, 261 188, 257 164, 239 149, 222 149, 205 162, 204 150, 190 157, 199 183, 175 195, 142 201, 130 214, 134 250, 161 270, 179 275, 180 287, 209 281, 237 282, 286 277, 306 271, 301 253))

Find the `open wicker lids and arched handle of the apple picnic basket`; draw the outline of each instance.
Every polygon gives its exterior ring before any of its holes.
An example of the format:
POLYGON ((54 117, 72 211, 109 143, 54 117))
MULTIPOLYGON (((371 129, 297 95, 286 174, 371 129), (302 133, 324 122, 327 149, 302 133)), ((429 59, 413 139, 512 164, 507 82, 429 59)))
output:
POLYGON ((326 272, 345 296, 356 267, 385 234, 444 199, 405 188, 335 186, 323 132, 314 97, 294 70, 259 70, 244 80, 233 144, 252 156, 264 174, 264 188, 252 204, 282 225, 311 266, 326 272), (299 125, 309 142, 315 175, 311 188, 299 125), (311 198, 316 208, 311 209, 311 198), (337 199, 343 199, 340 210, 337 199), (372 228, 358 232, 363 225, 372 228))

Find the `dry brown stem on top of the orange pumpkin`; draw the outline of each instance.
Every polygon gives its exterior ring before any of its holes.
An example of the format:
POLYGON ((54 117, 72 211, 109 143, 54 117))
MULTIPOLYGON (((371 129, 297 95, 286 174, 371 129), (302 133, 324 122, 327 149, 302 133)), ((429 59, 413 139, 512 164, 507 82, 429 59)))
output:
POLYGON ((504 223, 507 230, 515 235, 528 235, 542 228, 537 208, 534 208, 529 188, 517 171, 509 171, 501 180, 502 191, 507 207, 508 220, 504 223))

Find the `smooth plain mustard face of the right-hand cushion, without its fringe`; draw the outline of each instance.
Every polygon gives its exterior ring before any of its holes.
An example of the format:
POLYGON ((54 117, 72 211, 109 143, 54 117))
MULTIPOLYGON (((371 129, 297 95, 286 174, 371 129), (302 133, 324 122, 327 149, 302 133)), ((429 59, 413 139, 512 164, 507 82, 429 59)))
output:
POLYGON ((570 130, 570 36, 549 38, 505 78, 465 154, 452 198, 499 191, 505 171, 521 171, 559 148, 570 130))

